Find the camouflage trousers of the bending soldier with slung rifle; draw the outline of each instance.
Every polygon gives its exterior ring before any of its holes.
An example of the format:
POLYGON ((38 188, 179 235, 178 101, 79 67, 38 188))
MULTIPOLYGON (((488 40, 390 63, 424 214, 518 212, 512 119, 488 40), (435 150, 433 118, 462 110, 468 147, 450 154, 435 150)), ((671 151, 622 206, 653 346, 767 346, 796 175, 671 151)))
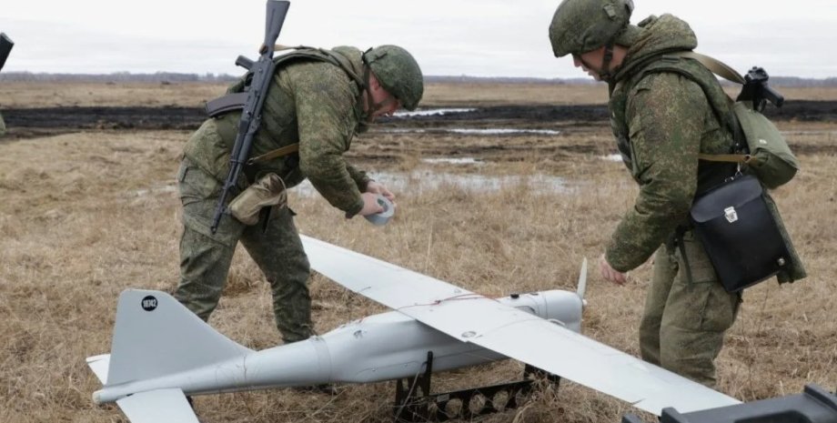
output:
POLYGON ((184 224, 177 300, 206 321, 227 284, 227 273, 240 242, 270 284, 276 325, 285 342, 310 337, 310 266, 293 212, 287 207, 273 210, 267 227, 262 222, 249 227, 225 215, 212 234, 209 227, 221 184, 188 159, 181 163, 177 179, 184 224))

